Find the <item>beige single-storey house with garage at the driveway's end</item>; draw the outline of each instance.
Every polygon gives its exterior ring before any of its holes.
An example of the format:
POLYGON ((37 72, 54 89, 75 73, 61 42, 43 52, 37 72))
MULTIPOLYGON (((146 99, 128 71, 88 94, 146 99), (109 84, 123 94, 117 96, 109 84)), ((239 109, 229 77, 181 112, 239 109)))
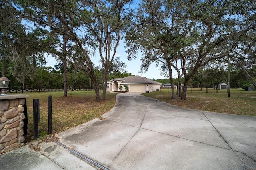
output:
POLYGON ((122 91, 125 91, 125 86, 128 86, 129 92, 150 93, 160 90, 160 85, 161 83, 157 81, 135 75, 108 81, 107 91, 120 91, 119 86, 122 86, 122 91))

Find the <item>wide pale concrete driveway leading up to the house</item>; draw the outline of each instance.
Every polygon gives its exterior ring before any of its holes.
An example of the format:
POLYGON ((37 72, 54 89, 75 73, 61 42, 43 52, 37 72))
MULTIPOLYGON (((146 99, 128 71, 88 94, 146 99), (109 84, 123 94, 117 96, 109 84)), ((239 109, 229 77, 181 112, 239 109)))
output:
POLYGON ((139 93, 118 94, 102 117, 57 134, 59 143, 40 144, 40 153, 64 169, 256 169, 256 117, 185 109, 139 93))

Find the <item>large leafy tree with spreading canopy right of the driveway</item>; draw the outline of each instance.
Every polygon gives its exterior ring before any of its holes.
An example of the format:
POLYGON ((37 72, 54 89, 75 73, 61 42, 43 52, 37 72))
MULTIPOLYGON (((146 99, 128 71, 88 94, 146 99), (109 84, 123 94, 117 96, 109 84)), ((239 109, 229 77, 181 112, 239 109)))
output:
POLYGON ((143 51, 142 69, 160 62, 170 70, 180 60, 185 78, 181 99, 186 99, 188 83, 200 67, 225 57, 233 49, 230 42, 239 42, 242 34, 255 32, 256 4, 251 0, 141 0, 131 23, 126 35, 128 57, 143 51))

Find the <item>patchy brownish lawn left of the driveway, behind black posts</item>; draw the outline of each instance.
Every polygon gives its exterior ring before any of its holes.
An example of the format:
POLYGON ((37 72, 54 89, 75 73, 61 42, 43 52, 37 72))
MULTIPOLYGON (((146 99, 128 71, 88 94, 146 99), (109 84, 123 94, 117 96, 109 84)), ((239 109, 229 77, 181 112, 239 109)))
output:
POLYGON ((33 141, 33 99, 40 102, 39 137, 48 134, 48 95, 52 96, 52 131, 53 134, 70 129, 101 115, 112 109, 117 93, 106 93, 106 100, 95 100, 94 91, 73 91, 72 95, 63 97, 63 92, 32 92, 22 93, 27 98, 28 135, 26 143, 33 141))

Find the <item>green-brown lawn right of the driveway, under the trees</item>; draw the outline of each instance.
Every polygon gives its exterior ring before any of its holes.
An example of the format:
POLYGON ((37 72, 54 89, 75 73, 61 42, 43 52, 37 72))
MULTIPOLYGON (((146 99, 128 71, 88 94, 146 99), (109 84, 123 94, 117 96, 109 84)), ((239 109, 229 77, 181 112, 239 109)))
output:
POLYGON ((206 93, 206 89, 200 91, 200 88, 192 88, 187 90, 186 101, 178 97, 171 100, 170 91, 171 89, 161 89, 143 95, 191 109, 256 116, 256 91, 230 89, 230 97, 228 97, 227 90, 218 90, 217 93, 216 89, 208 89, 206 93))

